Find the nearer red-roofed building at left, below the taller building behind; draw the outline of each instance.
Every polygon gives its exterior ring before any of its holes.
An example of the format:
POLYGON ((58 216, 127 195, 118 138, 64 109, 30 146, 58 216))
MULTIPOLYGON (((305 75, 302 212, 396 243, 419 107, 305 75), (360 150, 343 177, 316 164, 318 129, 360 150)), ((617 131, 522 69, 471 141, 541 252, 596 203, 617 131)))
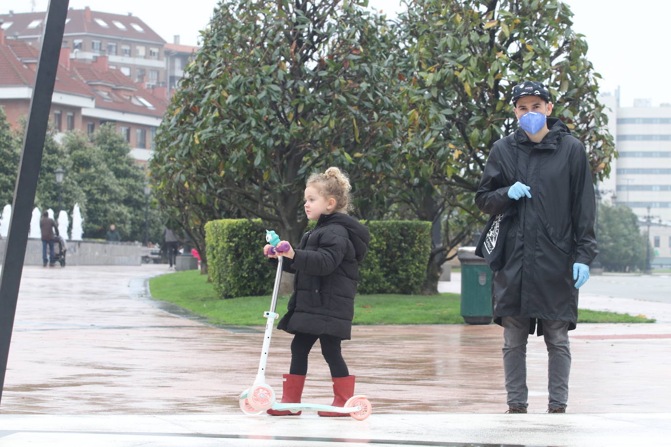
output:
MULTIPOLYGON (((14 127, 28 115, 37 62, 35 46, 8 40, 0 29, 0 106, 14 127)), ((62 48, 50 111, 56 137, 74 129, 90 134, 113 123, 130 143, 131 155, 145 164, 166 107, 165 87, 134 82, 111 68, 108 56, 84 62, 70 58, 70 49, 62 48)))

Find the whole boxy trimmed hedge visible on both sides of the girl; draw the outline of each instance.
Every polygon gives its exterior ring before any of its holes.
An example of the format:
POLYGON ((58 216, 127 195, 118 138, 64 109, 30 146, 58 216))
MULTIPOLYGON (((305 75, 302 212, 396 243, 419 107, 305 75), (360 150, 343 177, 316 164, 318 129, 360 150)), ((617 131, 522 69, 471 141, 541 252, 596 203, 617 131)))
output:
MULTIPOLYGON (((360 294, 419 294, 431 253, 431 222, 362 221, 370 231, 360 266, 360 294)), ((315 222, 309 222, 308 229, 315 222)), ((221 298, 268 295, 274 269, 263 256, 260 219, 212 220, 205 225, 209 274, 221 298)))

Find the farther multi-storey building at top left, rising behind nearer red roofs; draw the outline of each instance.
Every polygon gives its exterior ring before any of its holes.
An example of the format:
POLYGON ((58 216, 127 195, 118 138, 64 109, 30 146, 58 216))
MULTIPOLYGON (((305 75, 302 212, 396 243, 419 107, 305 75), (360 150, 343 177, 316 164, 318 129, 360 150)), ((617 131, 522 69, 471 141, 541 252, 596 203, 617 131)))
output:
MULTIPOLYGON (((0 14, 0 25, 7 39, 40 47, 46 13, 0 14)), ((127 15, 91 11, 91 8, 68 10, 63 36, 70 58, 93 62, 107 56, 109 68, 117 69, 144 87, 166 85, 164 45, 142 19, 127 15)))

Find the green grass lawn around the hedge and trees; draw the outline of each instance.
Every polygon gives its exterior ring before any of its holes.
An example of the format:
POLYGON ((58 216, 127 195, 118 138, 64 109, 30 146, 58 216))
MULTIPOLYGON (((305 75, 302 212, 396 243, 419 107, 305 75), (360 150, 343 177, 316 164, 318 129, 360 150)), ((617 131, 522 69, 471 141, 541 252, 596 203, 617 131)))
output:
MULTIPOLYGON (((245 296, 219 300, 207 276, 198 270, 178 271, 150 279, 152 296, 174 303, 211 322, 240 326, 262 326, 263 312, 270 306, 268 296, 245 296)), ((277 313, 287 309, 289 296, 280 296, 277 313)), ((354 301, 354 324, 462 324, 458 294, 423 295, 357 295, 354 301)), ((578 322, 583 323, 646 323, 647 318, 578 310, 578 322)))

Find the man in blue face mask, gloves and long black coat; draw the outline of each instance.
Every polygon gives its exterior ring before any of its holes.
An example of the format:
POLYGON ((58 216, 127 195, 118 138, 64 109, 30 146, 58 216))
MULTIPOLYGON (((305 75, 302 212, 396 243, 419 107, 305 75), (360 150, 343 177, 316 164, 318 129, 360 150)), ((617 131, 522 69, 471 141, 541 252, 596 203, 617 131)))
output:
POLYGON ((493 274, 495 322, 504 328, 503 367, 509 413, 526 413, 526 345, 548 347, 548 412, 564 413, 571 354, 568 330, 578 320, 578 288, 597 255, 595 194, 584 146, 560 119, 544 84, 513 87, 520 128, 491 149, 475 202, 486 214, 514 207, 493 274))

